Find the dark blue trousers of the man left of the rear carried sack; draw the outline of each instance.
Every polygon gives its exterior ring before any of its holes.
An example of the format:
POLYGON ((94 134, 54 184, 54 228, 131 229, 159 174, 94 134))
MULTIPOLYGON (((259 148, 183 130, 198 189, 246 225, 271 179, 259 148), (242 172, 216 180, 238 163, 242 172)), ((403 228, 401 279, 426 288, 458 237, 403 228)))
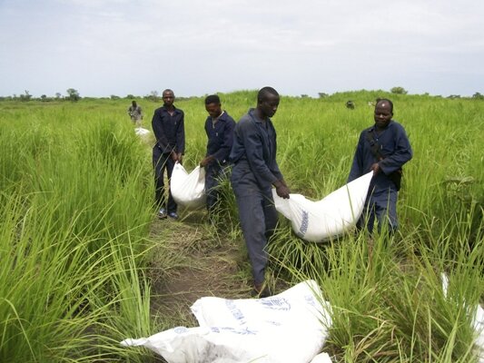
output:
POLYGON ((168 203, 164 195, 164 172, 168 178, 168 186, 172 179, 172 172, 174 168, 173 159, 170 153, 163 153, 156 145, 153 146, 153 170, 154 170, 154 199, 158 208, 165 208, 168 213, 176 212, 177 205, 173 200, 172 191, 168 190, 168 203))

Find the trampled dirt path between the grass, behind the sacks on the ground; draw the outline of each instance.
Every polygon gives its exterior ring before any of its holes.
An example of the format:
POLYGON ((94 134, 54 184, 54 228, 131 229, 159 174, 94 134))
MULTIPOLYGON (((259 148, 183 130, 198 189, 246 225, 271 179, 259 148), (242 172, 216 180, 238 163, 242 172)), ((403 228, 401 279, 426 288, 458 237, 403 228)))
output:
POLYGON ((243 241, 217 236, 202 211, 182 217, 155 220, 151 231, 160 243, 150 269, 152 315, 166 328, 198 326, 190 311, 196 299, 246 299, 252 290, 243 241))

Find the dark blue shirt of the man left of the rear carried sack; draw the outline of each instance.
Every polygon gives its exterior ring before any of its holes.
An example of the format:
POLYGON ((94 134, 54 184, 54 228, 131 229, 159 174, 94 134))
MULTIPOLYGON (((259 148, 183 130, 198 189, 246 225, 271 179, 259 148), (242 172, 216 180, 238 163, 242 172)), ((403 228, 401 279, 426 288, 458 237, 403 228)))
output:
POLYGON ((168 113, 164 106, 154 110, 152 127, 156 144, 163 153, 185 152, 184 113, 174 108, 174 113, 168 113))

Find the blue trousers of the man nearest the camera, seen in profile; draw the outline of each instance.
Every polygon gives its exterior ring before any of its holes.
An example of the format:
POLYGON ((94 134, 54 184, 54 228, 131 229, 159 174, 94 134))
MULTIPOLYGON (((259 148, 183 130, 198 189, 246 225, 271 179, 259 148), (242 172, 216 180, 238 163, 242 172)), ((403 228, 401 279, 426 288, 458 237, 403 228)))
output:
POLYGON ((255 284, 264 281, 267 265, 267 240, 277 225, 278 214, 272 199, 271 186, 261 189, 252 172, 232 170, 232 189, 239 209, 243 238, 252 265, 255 284))

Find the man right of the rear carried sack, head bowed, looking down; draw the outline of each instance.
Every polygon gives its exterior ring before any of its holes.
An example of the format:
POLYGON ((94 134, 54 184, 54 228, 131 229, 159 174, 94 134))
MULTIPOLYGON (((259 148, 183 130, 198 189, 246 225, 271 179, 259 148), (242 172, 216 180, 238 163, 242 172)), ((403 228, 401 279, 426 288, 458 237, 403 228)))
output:
POLYGON ((207 152, 200 162, 200 166, 205 168, 205 191, 210 218, 219 198, 217 190, 219 180, 229 165, 235 121, 229 113, 222 110, 220 98, 216 94, 205 98, 205 110, 209 114, 205 121, 208 142, 207 152))

